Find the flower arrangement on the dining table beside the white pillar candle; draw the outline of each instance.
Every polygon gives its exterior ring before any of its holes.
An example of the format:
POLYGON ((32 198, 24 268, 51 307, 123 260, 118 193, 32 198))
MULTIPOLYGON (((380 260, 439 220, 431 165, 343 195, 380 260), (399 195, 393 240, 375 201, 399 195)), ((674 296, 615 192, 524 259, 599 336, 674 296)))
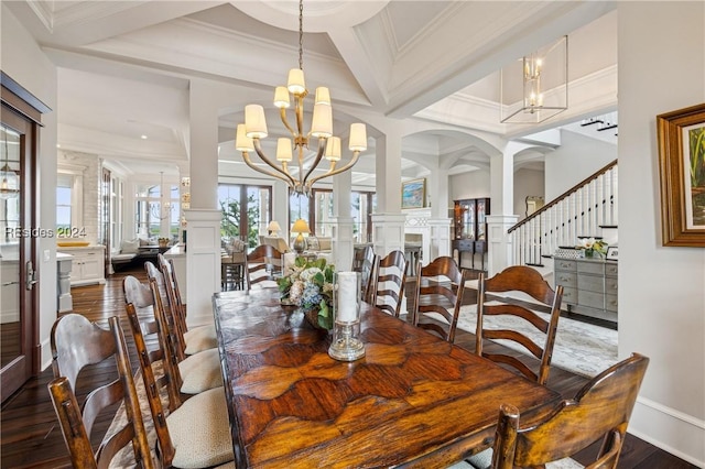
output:
MULTIPOLYGON (((276 281, 282 299, 299 306, 304 314, 317 312, 317 326, 333 327, 333 273, 325 259, 308 261, 296 258, 294 265, 276 281)), ((311 316, 308 316, 311 317, 311 316)))

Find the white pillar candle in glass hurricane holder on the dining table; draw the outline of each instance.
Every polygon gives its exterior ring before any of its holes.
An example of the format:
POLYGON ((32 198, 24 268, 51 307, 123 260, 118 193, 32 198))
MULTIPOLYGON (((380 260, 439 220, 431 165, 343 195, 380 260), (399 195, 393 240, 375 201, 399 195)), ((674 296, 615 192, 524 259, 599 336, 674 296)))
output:
POLYGON ((359 272, 336 272, 333 288, 333 341, 328 355, 340 361, 355 361, 365 357, 360 336, 359 272))

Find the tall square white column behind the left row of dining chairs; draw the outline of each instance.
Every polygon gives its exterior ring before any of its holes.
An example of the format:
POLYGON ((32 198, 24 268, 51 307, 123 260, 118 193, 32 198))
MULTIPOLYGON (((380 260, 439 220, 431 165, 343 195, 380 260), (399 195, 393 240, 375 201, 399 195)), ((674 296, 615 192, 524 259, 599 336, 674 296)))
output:
POLYGON ((191 209, 186 216, 188 325, 213 321, 212 296, 220 291, 218 210, 218 106, 208 83, 191 83, 191 209))

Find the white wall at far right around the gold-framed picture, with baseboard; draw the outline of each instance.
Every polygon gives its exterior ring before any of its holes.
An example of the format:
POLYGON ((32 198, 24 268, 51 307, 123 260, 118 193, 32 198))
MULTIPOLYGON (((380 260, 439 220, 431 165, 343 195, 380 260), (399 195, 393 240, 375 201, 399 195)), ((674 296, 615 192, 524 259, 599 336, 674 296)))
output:
POLYGON ((705 466, 705 248, 661 238, 655 116, 705 101, 705 2, 619 2, 619 356, 651 358, 629 430, 705 466))

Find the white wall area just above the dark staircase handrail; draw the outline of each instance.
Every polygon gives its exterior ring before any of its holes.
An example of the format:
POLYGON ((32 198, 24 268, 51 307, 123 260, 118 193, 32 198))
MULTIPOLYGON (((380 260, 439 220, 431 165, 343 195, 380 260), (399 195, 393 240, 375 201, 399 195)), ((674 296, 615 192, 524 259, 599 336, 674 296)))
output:
MULTIPOLYGON (((621 116, 619 127, 621 144, 621 116)), ((561 146, 545 156, 546 201, 558 197, 615 160, 617 145, 562 130, 561 146)))

